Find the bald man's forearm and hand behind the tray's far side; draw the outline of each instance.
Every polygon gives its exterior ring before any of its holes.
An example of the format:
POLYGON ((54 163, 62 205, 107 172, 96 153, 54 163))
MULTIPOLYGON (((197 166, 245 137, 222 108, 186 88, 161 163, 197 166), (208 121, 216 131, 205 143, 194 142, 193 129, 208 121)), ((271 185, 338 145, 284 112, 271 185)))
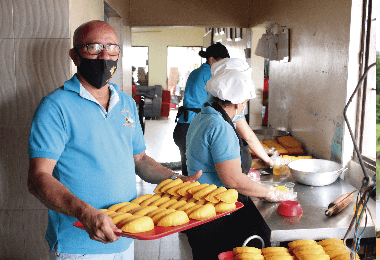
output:
MULTIPOLYGON (((135 159, 136 174, 146 182, 158 184, 163 180, 169 179, 175 173, 166 169, 153 158, 146 155, 145 152, 133 156, 135 159)), ((191 176, 180 175, 183 181, 195 181, 202 175, 202 171, 198 171, 191 176)))

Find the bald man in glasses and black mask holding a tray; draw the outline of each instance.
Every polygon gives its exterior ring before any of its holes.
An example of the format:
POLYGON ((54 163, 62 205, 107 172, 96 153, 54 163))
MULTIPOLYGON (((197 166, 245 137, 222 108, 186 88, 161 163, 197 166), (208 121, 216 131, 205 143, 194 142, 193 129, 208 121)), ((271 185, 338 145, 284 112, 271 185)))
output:
POLYGON ((78 72, 42 99, 33 118, 28 189, 49 208, 50 259, 133 259, 133 240, 118 239, 98 209, 134 199, 135 174, 151 183, 175 174, 145 154, 136 104, 108 83, 120 53, 113 28, 90 21, 73 41, 78 72), (73 227, 77 220, 87 233, 73 227))

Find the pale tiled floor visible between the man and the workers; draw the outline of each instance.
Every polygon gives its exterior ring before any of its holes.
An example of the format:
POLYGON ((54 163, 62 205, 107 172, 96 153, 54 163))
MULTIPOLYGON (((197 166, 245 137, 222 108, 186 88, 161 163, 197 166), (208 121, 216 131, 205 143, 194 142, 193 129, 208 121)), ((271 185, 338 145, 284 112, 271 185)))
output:
MULTIPOLYGON (((146 153, 157 162, 179 162, 178 147, 173 141, 175 116, 171 110, 168 118, 145 121, 146 153)), ((156 185, 137 177, 137 196, 153 193, 156 185)), ((176 233, 157 240, 135 240, 135 260, 193 259, 191 247, 185 234, 176 233)))

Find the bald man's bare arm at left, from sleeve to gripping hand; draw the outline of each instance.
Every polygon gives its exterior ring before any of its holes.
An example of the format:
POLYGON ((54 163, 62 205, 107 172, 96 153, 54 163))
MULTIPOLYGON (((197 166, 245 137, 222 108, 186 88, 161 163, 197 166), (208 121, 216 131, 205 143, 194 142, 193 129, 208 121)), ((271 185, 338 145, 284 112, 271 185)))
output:
POLYGON ((80 200, 53 177, 56 161, 47 158, 29 160, 28 190, 47 208, 81 221, 90 238, 103 243, 114 242, 117 227, 112 219, 80 200))

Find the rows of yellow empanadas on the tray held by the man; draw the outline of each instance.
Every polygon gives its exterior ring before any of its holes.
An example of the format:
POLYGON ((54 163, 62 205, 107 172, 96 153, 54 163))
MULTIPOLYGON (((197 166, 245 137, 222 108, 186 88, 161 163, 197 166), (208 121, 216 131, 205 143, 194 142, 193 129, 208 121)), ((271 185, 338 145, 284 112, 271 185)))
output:
POLYGON ((190 219, 204 220, 216 216, 217 212, 234 210, 238 198, 235 189, 181 179, 161 182, 154 193, 101 210, 122 231, 139 233, 152 230, 155 225, 179 226, 190 219))

